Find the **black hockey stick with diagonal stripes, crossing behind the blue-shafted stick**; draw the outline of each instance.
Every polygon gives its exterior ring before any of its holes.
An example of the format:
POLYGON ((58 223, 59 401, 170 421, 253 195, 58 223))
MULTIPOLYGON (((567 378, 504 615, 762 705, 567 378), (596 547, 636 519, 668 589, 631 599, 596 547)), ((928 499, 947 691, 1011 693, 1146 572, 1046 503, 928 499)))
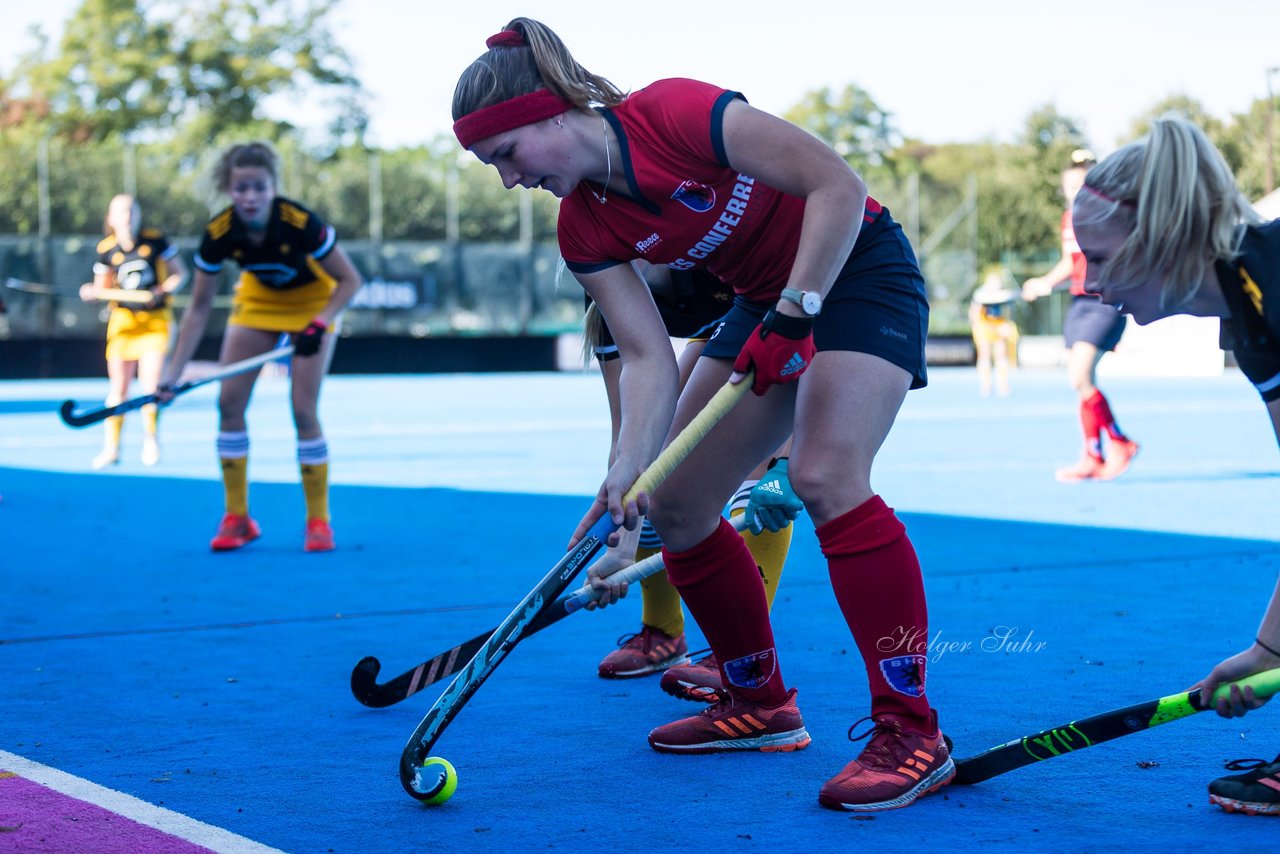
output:
MULTIPOLYGON (((742 530, 746 528, 746 513, 735 516, 732 520, 733 528, 742 530)), ((662 572, 662 554, 650 554, 639 563, 632 563, 627 568, 620 571, 617 577, 620 581, 626 581, 627 584, 635 584, 641 581, 650 575, 662 572)), ((529 624, 525 630, 525 636, 538 634, 543 629, 554 625, 567 617, 568 615, 579 611, 589 602, 594 602, 600 598, 599 590, 595 590, 591 585, 582 585, 573 593, 562 595, 559 599, 552 603, 536 620, 529 624)), ((378 684, 378 673, 383 668, 383 663, 378 661, 374 656, 366 656, 361 658, 356 667, 351 671, 351 693, 360 700, 361 704, 369 708, 387 708, 388 705, 394 705, 401 700, 408 699, 417 694, 425 688, 429 688, 453 673, 462 670, 471 658, 480 652, 489 638, 493 636, 497 629, 486 631, 481 635, 476 635, 471 640, 465 640, 453 649, 445 649, 434 658, 429 658, 417 667, 407 670, 396 679, 378 684)))

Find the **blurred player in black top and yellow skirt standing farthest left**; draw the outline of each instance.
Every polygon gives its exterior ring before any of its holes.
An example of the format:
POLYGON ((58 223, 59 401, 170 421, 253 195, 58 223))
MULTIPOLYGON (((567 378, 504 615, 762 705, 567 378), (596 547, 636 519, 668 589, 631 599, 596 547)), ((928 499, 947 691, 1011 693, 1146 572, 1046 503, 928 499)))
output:
MULTIPOLYGON (((97 245, 93 282, 81 287, 81 298, 93 302, 108 300, 113 291, 129 291, 141 300, 110 300, 111 314, 106 321, 106 375, 110 388, 106 405, 115 406, 128 397, 134 371, 145 394, 156 391, 173 326, 168 298, 182 287, 187 268, 178 256, 178 247, 165 238, 164 232, 142 228, 142 207, 133 196, 119 195, 111 198, 102 230, 106 237, 97 245)), ((160 461, 155 405, 142 407, 142 463, 154 466, 160 461)), ((106 419, 105 426, 102 451, 93 457, 95 469, 120 461, 124 416, 106 419)))

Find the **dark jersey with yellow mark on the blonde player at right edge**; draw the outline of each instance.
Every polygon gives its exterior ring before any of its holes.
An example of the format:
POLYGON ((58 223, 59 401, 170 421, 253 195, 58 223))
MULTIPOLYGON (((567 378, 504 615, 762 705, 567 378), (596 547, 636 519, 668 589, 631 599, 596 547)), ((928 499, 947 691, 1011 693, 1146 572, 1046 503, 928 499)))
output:
POLYGON ((1222 348, 1266 402, 1280 399, 1280 219, 1247 225, 1240 254, 1216 265, 1231 310, 1222 321, 1222 348))

